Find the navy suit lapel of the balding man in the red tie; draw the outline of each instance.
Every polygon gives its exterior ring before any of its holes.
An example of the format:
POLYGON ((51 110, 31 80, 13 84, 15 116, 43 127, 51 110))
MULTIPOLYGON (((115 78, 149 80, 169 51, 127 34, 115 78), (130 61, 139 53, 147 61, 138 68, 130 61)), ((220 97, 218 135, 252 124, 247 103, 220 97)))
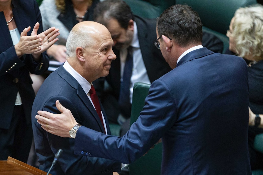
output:
MULTIPOLYGON (((64 63, 63 63, 64 64, 64 63)), ((87 94, 84 92, 84 90, 82 89, 82 87, 80 86, 80 84, 77 82, 76 79, 74 79, 74 77, 72 75, 70 75, 64 68, 63 68, 63 64, 56 70, 58 75, 63 78, 65 81, 67 81, 70 86, 74 89, 76 89, 77 91, 77 96, 81 99, 81 101, 83 102, 83 104, 87 107, 87 109, 90 111, 90 113, 92 114, 92 116, 95 118, 95 120, 97 121, 101 132, 104 132, 104 128, 103 125, 99 119, 99 116, 96 112, 96 110, 94 109, 92 103, 90 102, 90 100, 88 99, 87 94)), ((102 108, 102 105, 100 103, 100 107, 102 108)), ((104 111, 104 110, 103 110, 104 111)), ((106 116, 105 113, 103 113, 104 116, 106 116)), ((88 116, 88 114, 87 114, 88 116)), ((88 116, 91 117, 91 116, 88 116)), ((106 119, 105 119, 106 120, 106 119)), ((106 122, 106 121, 105 121, 106 122)), ((107 124, 107 122, 106 122, 107 124)), ((108 128, 108 126, 107 126, 108 128)))

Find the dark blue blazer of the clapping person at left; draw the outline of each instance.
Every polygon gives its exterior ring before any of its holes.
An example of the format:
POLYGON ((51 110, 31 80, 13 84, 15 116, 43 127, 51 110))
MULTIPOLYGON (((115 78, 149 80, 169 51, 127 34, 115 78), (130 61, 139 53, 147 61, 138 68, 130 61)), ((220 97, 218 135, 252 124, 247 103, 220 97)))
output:
MULTIPOLYGON (((41 14, 34 0, 13 0, 12 4, 13 20, 19 33, 31 26, 27 33, 30 35, 37 22, 40 23, 38 33, 43 32, 41 14)), ((0 41, 0 128, 9 129, 17 92, 22 99, 27 124, 31 122, 35 93, 29 72, 37 75, 44 73, 49 67, 49 58, 46 52, 41 54, 38 63, 33 61, 31 54, 18 58, 3 12, 0 12, 0 41)))

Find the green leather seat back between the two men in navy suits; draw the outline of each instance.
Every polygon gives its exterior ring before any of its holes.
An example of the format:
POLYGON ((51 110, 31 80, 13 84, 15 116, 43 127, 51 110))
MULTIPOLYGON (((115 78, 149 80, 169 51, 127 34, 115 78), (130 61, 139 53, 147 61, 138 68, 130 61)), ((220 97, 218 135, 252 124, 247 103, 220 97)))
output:
MULTIPOLYGON (((131 124, 139 117, 148 95, 150 85, 137 82, 133 87, 131 124)), ((159 143, 145 156, 129 165, 130 175, 160 175, 162 160, 162 144, 159 143)))

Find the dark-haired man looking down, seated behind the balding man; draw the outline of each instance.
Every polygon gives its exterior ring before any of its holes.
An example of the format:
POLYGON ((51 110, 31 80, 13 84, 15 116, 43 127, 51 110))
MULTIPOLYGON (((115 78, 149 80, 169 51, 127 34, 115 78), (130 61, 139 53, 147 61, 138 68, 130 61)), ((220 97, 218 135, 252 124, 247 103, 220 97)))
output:
MULTIPOLYGON (((156 19, 134 15, 122 0, 105 0, 95 7, 94 20, 110 31, 117 58, 111 64, 109 75, 93 84, 109 122, 122 126, 122 136, 130 127, 134 83, 150 84, 171 68, 160 49, 153 45, 157 39, 156 19), (105 84, 108 86, 104 87, 105 84)), ((214 52, 222 52, 223 49, 222 41, 210 33, 203 34, 202 44, 214 52)))

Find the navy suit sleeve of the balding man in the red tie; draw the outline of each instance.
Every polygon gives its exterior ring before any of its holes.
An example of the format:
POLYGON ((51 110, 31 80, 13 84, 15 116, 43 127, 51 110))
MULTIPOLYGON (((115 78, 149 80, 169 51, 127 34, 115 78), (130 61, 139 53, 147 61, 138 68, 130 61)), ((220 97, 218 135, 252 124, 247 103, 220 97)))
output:
MULTIPOLYGON (((63 104, 65 107, 70 109, 72 113, 77 116, 78 113, 74 107, 74 102, 72 103, 70 100, 66 99, 62 96, 53 96, 51 99, 49 99, 45 105, 43 110, 49 111, 52 113, 60 113, 56 106, 55 101, 59 100, 61 104, 63 104)), ((77 118, 79 118, 77 116, 77 118)), ((81 123, 81 121, 78 121, 81 123)), ((40 126, 38 126, 39 128, 40 126)), ((42 130, 39 128, 39 130, 42 130)), ((42 130, 43 131, 43 130, 42 130)), ((38 131, 40 133, 40 131, 38 131)), ((37 148, 42 147, 41 150, 38 150, 37 152, 42 152, 42 156, 46 155, 46 158, 44 156, 43 159, 45 161, 48 160, 48 162, 52 163, 52 159, 54 159, 54 155, 59 149, 63 150, 63 153, 61 154, 58 164, 63 170, 65 174, 98 174, 103 172, 112 172, 112 171, 120 171, 121 163, 117 163, 112 160, 103 159, 103 158, 94 158, 94 157, 88 157, 83 155, 74 155, 74 138, 62 138, 56 135, 52 135, 46 131, 43 131, 43 139, 44 144, 38 145, 37 148), (45 152, 45 150, 51 149, 51 152, 45 152)), ((38 137, 41 138, 41 137, 38 137)), ((35 140, 36 142, 36 140, 35 140)), ((35 143, 39 144, 39 143, 35 143)), ((38 153, 39 154, 39 153, 38 153)), ((56 169, 56 167, 54 167, 56 169)), ((52 174, 52 172, 50 172, 52 174)))

